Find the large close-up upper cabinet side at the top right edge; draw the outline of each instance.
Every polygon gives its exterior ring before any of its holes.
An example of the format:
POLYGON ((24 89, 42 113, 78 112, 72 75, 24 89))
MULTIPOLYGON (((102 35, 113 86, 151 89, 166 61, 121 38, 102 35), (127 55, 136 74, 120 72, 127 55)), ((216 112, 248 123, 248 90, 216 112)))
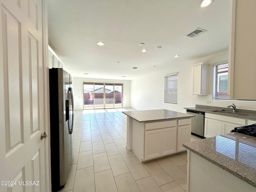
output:
POLYGON ((256 100, 256 0, 232 0, 229 45, 230 99, 256 100))

